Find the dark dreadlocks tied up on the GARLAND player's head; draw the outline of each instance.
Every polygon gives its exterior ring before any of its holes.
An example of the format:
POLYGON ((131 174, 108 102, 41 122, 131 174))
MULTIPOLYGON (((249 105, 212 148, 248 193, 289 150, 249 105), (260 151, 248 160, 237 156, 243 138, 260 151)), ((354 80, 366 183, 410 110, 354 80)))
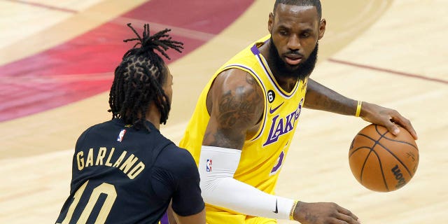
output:
POLYGON ((161 118, 160 123, 167 123, 168 113, 171 109, 170 102, 162 89, 167 76, 166 64, 155 50, 167 59, 165 52, 172 48, 178 52, 183 49, 183 43, 172 41, 164 29, 151 36, 149 25, 144 25, 143 36, 140 36, 131 24, 128 27, 134 31, 137 38, 124 40, 138 41, 134 47, 123 56, 123 61, 115 70, 111 92, 109 94, 109 105, 113 118, 122 118, 127 125, 134 125, 137 129, 146 126, 146 111, 151 102, 158 107, 161 118), (137 47, 139 46, 139 47, 137 47))

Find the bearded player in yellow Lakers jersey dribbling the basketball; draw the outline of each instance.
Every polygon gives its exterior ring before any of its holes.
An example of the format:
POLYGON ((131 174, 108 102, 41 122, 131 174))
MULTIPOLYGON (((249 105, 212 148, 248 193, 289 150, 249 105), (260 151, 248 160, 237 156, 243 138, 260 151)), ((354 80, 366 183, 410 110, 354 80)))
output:
POLYGON ((335 203, 307 203, 274 195, 281 165, 303 108, 360 116, 398 134, 397 111, 357 102, 309 78, 325 33, 318 0, 277 0, 270 35, 239 52, 200 95, 180 146, 199 166, 209 224, 358 224, 335 203))

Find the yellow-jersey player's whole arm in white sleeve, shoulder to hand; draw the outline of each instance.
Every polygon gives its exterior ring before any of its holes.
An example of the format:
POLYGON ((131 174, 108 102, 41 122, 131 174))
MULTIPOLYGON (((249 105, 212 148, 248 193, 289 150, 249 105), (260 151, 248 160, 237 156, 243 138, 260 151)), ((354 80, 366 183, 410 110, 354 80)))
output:
MULTIPOLYGON (((253 137, 262 118, 262 94, 253 77, 237 69, 224 71, 214 81, 207 96, 210 120, 199 162, 202 197, 207 204, 240 214, 288 220, 294 200, 267 194, 233 178, 244 140, 253 137), (213 169, 208 161, 213 161, 213 169)), ((335 203, 297 202, 293 218, 307 224, 335 218, 359 224, 354 214, 335 203)))

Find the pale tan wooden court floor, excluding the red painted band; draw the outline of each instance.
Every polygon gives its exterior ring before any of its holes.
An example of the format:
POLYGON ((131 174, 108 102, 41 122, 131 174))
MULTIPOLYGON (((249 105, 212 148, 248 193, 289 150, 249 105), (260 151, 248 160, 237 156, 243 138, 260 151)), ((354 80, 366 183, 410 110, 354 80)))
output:
MULTIPOLYGON (((146 2, 0 0, 0 66, 55 48, 111 20, 124 26, 123 17, 114 18, 146 2)), ((169 64, 174 101, 162 134, 179 143, 208 77, 267 33, 273 3, 254 1, 218 34, 177 30, 179 36, 207 38, 207 43, 169 64)), ((395 192, 363 188, 350 172, 348 150, 367 123, 305 110, 276 194, 305 202, 337 202, 362 223, 448 223, 448 44, 443 41, 448 34, 448 1, 322 3, 327 32, 311 77, 347 97, 396 109, 409 118, 419 135, 419 169, 407 186, 395 192)), ((157 26, 164 24, 158 21, 157 26)), ((40 81, 3 76, 1 70, 0 78, 5 86, 40 81)), ((0 97, 3 101, 10 96, 0 90, 0 97)), ((75 141, 85 128, 110 119, 107 100, 108 92, 100 92, 0 122, 0 223, 54 223, 69 193, 75 141)))

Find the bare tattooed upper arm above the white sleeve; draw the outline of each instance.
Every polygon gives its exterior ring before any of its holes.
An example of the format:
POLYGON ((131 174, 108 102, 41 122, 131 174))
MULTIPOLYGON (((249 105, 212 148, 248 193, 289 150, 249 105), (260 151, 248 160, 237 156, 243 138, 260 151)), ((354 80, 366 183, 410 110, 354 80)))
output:
POLYGON ((223 71, 209 92, 210 120, 204 146, 238 148, 263 111, 262 90, 253 77, 239 69, 223 71))

